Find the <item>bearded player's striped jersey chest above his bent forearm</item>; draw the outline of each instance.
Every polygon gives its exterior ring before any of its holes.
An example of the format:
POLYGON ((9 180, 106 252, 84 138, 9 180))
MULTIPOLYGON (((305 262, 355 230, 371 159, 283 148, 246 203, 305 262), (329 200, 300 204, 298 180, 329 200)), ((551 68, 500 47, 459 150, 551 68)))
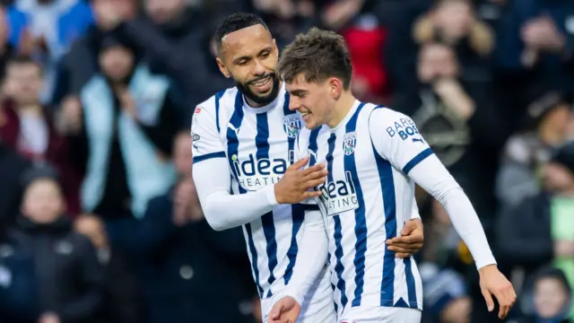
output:
POLYGON ((237 91, 221 103, 220 137, 233 175, 233 193, 274 185, 291 165, 300 115, 284 91, 264 108, 249 108, 237 91))

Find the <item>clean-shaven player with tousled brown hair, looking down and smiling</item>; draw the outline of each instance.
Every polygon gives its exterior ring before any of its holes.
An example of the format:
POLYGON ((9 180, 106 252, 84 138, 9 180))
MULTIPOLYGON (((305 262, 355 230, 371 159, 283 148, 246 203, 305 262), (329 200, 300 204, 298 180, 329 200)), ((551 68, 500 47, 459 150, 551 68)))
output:
POLYGON ((494 308, 493 294, 505 318, 516 294, 496 266, 473 205, 411 118, 352 96, 344 39, 317 29, 299 35, 283 51, 278 74, 291 93, 290 109, 300 112, 307 127, 297 139, 298 155, 309 155, 310 167, 326 162, 328 179, 317 188, 324 216, 306 216, 300 245, 317 261, 298 263, 270 322, 297 318, 309 282, 323 266, 325 244, 338 322, 420 322, 417 266, 413 258, 397 259, 385 243, 410 217, 415 182, 448 211, 472 252, 488 309, 494 308))

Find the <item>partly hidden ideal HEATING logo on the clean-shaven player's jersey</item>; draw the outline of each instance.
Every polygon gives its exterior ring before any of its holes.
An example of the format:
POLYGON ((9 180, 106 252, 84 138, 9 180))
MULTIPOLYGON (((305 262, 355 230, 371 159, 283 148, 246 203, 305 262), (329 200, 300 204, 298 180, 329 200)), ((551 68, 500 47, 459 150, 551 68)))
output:
POLYGON ((325 206, 327 216, 342 214, 359 208, 351 172, 345 171, 344 175, 345 180, 328 182, 318 188, 321 191, 319 199, 325 206))

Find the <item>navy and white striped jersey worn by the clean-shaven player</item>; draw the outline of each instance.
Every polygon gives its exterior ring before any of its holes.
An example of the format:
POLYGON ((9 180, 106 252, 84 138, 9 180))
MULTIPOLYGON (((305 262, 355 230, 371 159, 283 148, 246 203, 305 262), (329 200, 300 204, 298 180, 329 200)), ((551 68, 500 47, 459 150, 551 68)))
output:
POLYGON ((385 241, 411 219, 414 183, 406 174, 431 154, 411 118, 356 101, 338 127, 304 128, 297 156, 326 162, 317 203, 329 237, 329 263, 339 315, 350 307, 422 310, 413 258, 399 259, 385 241))

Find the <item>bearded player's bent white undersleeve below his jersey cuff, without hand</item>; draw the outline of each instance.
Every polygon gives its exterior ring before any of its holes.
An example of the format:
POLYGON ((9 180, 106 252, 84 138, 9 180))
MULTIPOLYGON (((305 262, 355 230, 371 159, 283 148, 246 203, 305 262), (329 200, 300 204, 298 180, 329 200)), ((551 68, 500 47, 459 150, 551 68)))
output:
POLYGON ((230 171, 224 159, 194 164, 194 181, 205 220, 216 231, 251 223, 277 205, 273 187, 231 195, 230 171))

